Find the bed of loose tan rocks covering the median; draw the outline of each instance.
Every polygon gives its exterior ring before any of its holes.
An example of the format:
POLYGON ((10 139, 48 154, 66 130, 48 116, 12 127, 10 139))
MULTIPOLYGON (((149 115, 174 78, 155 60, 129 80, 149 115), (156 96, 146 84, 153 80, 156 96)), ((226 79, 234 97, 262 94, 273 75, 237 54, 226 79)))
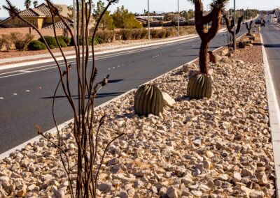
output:
MULTIPOLYGON (((261 53, 246 47, 240 59, 261 53), (248 54, 246 57, 244 54, 248 54)), ((197 64, 155 79, 176 103, 161 116, 139 117, 134 92, 95 112, 109 115, 99 146, 109 147, 99 176, 99 197, 274 197, 274 160, 262 60, 212 64, 213 96, 189 100, 188 72, 197 64)), ((62 131, 75 171, 76 146, 62 131)), ((49 135, 55 139, 55 135, 49 135)), ((99 149, 99 157, 102 155, 99 149)), ((100 158, 98 158, 100 160, 100 158)), ((0 197, 67 197, 58 153, 41 139, 0 160, 0 197)))

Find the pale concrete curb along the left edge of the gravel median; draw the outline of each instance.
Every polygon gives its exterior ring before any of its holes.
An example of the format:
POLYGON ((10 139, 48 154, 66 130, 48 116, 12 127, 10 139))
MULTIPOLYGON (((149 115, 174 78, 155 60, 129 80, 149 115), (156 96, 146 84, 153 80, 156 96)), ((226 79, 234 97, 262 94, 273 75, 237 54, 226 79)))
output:
MULTIPOLYGON (((216 50, 214 50, 213 52, 215 52, 215 51, 217 51, 217 50, 220 50, 221 48, 223 48, 223 46, 222 46, 222 47, 218 47, 218 48, 217 48, 216 50)), ((197 59, 194 59, 193 61, 189 61, 188 63, 184 63, 183 65, 194 63, 194 62, 197 61, 197 60, 198 60, 198 58, 197 58, 197 59)), ((164 76, 164 75, 167 75, 167 74, 169 74, 169 73, 172 73, 173 70, 176 70, 176 69, 178 69, 178 68, 181 68, 183 65, 181 65, 181 66, 179 66, 179 67, 177 67, 177 68, 174 68, 174 69, 170 70, 169 72, 167 72, 167 73, 165 73, 165 74, 163 74, 163 75, 160 75, 159 77, 155 77, 154 79, 151 79, 150 81, 148 81, 148 82, 146 82, 146 83, 144 83, 144 84, 148 84, 148 83, 154 81, 155 79, 158 79, 158 78, 160 78, 160 77, 162 77, 162 76, 164 76)), ((141 84, 141 85, 143 85, 143 84, 141 84)), ((140 85, 140 86, 141 86, 141 85, 140 85)), ((109 103, 114 102, 114 101, 118 100, 119 98, 122 98, 123 96, 126 96, 128 93, 131 93, 131 92, 134 91, 134 90, 137 90, 137 89, 131 89, 130 91, 127 91, 127 92, 123 93, 122 95, 117 96, 116 98, 112 98, 111 100, 102 103, 102 105, 99 105, 99 106, 97 106, 97 107, 94 107, 94 111, 97 110, 97 109, 100 109, 100 108, 102 108, 102 107, 104 107, 104 106, 106 106, 106 105, 109 105, 109 103)), ((66 127, 67 125, 69 125, 69 123, 73 123, 73 119, 71 119, 71 120, 69 120, 69 121, 66 121, 66 122, 64 122, 64 123, 62 123, 62 124, 60 124, 60 125, 58 125, 58 129, 61 130, 62 128, 64 128, 64 127, 66 127)), ((50 130, 48 130, 48 131, 46 131, 46 132, 44 132, 44 133, 53 134, 53 133, 56 133, 56 132, 57 132, 57 128, 52 128, 52 129, 50 129, 50 130)), ((38 141, 38 140, 41 139, 41 138, 43 138, 43 137, 41 137, 41 135, 38 135, 38 136, 36 136, 36 137, 34 137, 34 138, 32 138, 32 139, 29 139, 27 142, 24 142, 24 143, 22 143, 22 144, 20 144, 20 145, 18 145, 18 146, 15 146, 14 148, 10 148, 10 150, 8 150, 8 151, 6 151, 6 152, 0 154, 0 160, 2 160, 3 158, 7 158, 7 157, 10 155, 10 153, 13 153, 14 151, 17 151, 17 150, 20 151, 22 148, 24 148, 25 146, 27 146, 27 144, 29 144, 29 143, 31 143, 31 142, 36 142, 36 141, 38 141)))

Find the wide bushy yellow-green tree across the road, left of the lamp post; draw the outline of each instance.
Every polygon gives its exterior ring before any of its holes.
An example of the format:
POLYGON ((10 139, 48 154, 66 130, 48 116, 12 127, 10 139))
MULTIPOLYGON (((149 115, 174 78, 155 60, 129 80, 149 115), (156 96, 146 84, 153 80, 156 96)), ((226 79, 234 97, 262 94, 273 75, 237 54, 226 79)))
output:
POLYGON ((143 26, 137 22, 133 13, 130 13, 124 6, 117 8, 116 12, 113 13, 113 24, 117 28, 142 28, 143 26))

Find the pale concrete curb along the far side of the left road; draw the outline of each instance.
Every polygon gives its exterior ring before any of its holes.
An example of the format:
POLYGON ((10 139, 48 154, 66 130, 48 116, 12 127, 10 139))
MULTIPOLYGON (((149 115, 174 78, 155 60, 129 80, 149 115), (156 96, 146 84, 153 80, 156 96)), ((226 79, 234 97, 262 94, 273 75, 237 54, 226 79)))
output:
MULTIPOLYGON (((193 38, 198 38, 198 36, 189 36, 189 37, 185 37, 185 38, 180 38, 180 39, 174 39, 174 40, 169 40, 169 41, 164 41, 164 42, 158 42, 158 43, 150 43, 150 44, 146 44, 146 45, 136 45, 136 46, 132 46, 132 47, 123 47, 123 48, 118 48, 116 50, 107 50, 107 51, 102 51, 102 52, 94 52, 95 55, 100 55, 100 54, 107 54, 107 53, 112 53, 112 52, 121 52, 121 51, 125 51, 125 50, 134 50, 134 49, 139 49, 141 47, 151 47, 151 46, 155 46, 155 45, 164 45, 164 44, 168 44, 168 43, 176 43, 176 42, 180 42, 182 40, 191 40, 193 38)), ((92 53, 90 53, 90 56, 92 55, 92 53)), ((66 56, 66 59, 74 59, 76 58, 76 55, 71 55, 71 56, 66 56)), ((56 58, 57 61, 62 61, 63 57, 57 57, 56 58)), ((15 64, 8 64, 5 66, 0 66, 0 70, 6 70, 6 69, 10 69, 10 68, 20 68, 20 67, 24 67, 24 66, 32 66, 32 65, 36 65, 39 63, 49 63, 49 62, 54 62, 54 60, 51 59, 43 59, 43 60, 38 60, 38 61, 29 61, 29 62, 24 62, 24 63, 15 63, 15 64)))

